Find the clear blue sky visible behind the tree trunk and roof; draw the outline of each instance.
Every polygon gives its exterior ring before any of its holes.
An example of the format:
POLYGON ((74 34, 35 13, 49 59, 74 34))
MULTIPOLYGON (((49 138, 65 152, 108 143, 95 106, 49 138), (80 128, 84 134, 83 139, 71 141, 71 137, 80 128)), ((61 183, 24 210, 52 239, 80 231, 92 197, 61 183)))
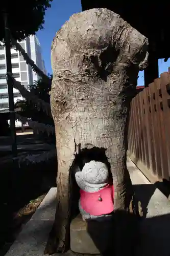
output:
MULTIPOLYGON (((45 13, 44 29, 38 31, 37 37, 42 48, 42 55, 45 61, 45 68, 48 73, 52 73, 51 68, 51 44, 56 32, 69 19, 69 17, 80 12, 81 0, 53 0, 52 7, 45 13)), ((170 67, 170 58, 167 62, 159 59, 159 75, 170 67)), ((138 85, 143 86, 144 72, 139 72, 138 85)))

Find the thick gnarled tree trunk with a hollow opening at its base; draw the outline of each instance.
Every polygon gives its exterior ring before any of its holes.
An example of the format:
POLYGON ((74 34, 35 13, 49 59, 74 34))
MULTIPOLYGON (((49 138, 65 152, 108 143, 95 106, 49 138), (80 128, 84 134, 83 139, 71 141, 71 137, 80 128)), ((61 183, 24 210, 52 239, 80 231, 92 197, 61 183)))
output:
POLYGON ((56 128, 57 209, 52 244, 69 247, 69 170, 76 145, 103 147, 115 187, 115 210, 133 211, 126 167, 127 121, 139 69, 148 58, 148 40, 119 15, 91 9, 72 15, 52 44, 51 106, 56 128))

